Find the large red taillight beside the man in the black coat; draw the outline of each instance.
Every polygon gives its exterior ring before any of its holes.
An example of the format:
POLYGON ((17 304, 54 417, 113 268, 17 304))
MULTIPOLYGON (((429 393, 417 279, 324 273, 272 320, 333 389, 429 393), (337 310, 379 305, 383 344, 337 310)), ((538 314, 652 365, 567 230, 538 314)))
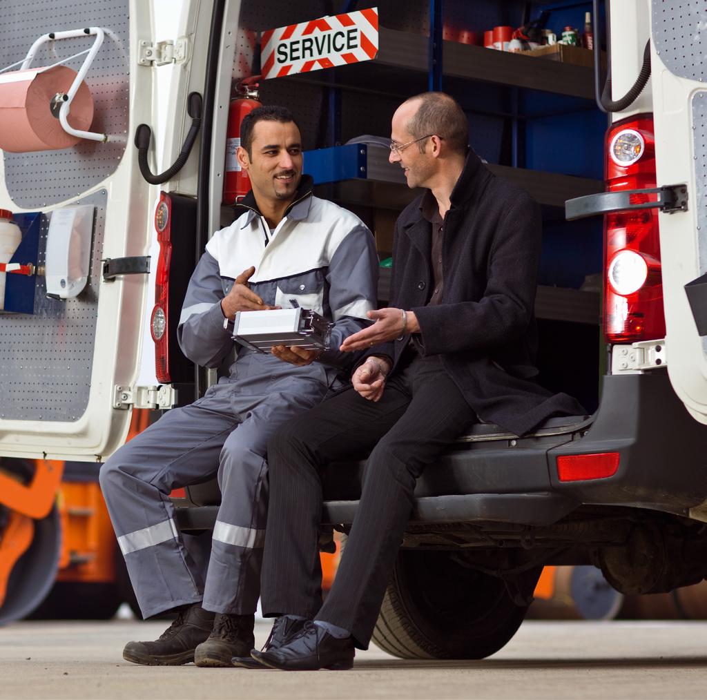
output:
MULTIPOLYGON (((617 122, 606 138, 607 192, 655 187, 653 118, 617 122)), ((655 201, 631 195, 631 204, 655 201)), ((609 343, 665 337, 658 210, 604 216, 604 335, 609 343)))

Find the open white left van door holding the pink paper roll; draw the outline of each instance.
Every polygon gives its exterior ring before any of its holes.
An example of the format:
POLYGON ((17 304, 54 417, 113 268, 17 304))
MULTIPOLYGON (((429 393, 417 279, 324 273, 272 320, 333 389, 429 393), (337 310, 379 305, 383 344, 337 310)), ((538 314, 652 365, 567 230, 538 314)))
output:
MULTIPOLYGON (((0 455, 103 461, 124 442, 132 407, 173 402, 170 386, 138 381, 141 358, 155 356, 146 319, 155 303, 156 202, 160 189, 194 197, 199 139, 181 173, 162 185, 141 174, 134 139, 139 124, 151 127, 153 172, 179 155, 192 126, 189 94, 203 93, 213 2, 2 6, 0 69, 10 67, 0 71, 0 209, 12 214, 5 238, 14 243, 0 257, 8 265, 0 455), (165 8, 174 38, 158 42, 165 8), (35 70, 54 64, 51 81, 35 70), (83 82, 72 96, 76 74, 83 82), (158 93, 170 100, 161 129, 158 93), (67 101, 78 138, 57 132, 67 101), (13 144, 7 124, 24 129, 23 143, 13 144)), ((193 238, 182 244, 195 251, 193 238)))

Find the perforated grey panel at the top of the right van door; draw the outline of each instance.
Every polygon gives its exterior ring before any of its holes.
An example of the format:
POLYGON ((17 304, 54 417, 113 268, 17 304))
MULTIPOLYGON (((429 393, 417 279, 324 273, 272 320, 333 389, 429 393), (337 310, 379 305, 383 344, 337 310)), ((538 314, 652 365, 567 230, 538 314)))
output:
POLYGON ((680 78, 704 81, 707 71, 705 0, 653 0, 651 33, 665 67, 680 78))

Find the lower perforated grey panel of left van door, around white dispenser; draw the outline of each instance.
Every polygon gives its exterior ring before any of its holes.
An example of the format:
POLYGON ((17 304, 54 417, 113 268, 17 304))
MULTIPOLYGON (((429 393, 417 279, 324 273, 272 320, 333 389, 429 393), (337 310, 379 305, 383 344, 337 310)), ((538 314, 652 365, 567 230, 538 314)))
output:
MULTIPOLYGON (((105 189, 67 204, 95 206, 86 288, 74 299, 47 298, 37 275, 35 313, 0 313, 0 419, 76 421, 88 405, 105 229, 105 189)), ((45 262, 51 214, 42 214, 38 264, 45 262)))

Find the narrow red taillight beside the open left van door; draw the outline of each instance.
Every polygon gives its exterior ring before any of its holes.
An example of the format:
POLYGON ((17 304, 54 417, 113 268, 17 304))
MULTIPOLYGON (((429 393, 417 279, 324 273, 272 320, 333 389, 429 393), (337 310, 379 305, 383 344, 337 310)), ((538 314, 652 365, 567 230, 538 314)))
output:
POLYGON ((172 225, 172 207, 167 194, 160 194, 160 201, 155 210, 155 230, 160 244, 160 254, 157 259, 157 276, 155 281, 155 308, 150 318, 150 330, 155 342, 155 373, 158 382, 169 383, 169 285, 170 259, 172 257, 172 242, 170 228, 172 225))

